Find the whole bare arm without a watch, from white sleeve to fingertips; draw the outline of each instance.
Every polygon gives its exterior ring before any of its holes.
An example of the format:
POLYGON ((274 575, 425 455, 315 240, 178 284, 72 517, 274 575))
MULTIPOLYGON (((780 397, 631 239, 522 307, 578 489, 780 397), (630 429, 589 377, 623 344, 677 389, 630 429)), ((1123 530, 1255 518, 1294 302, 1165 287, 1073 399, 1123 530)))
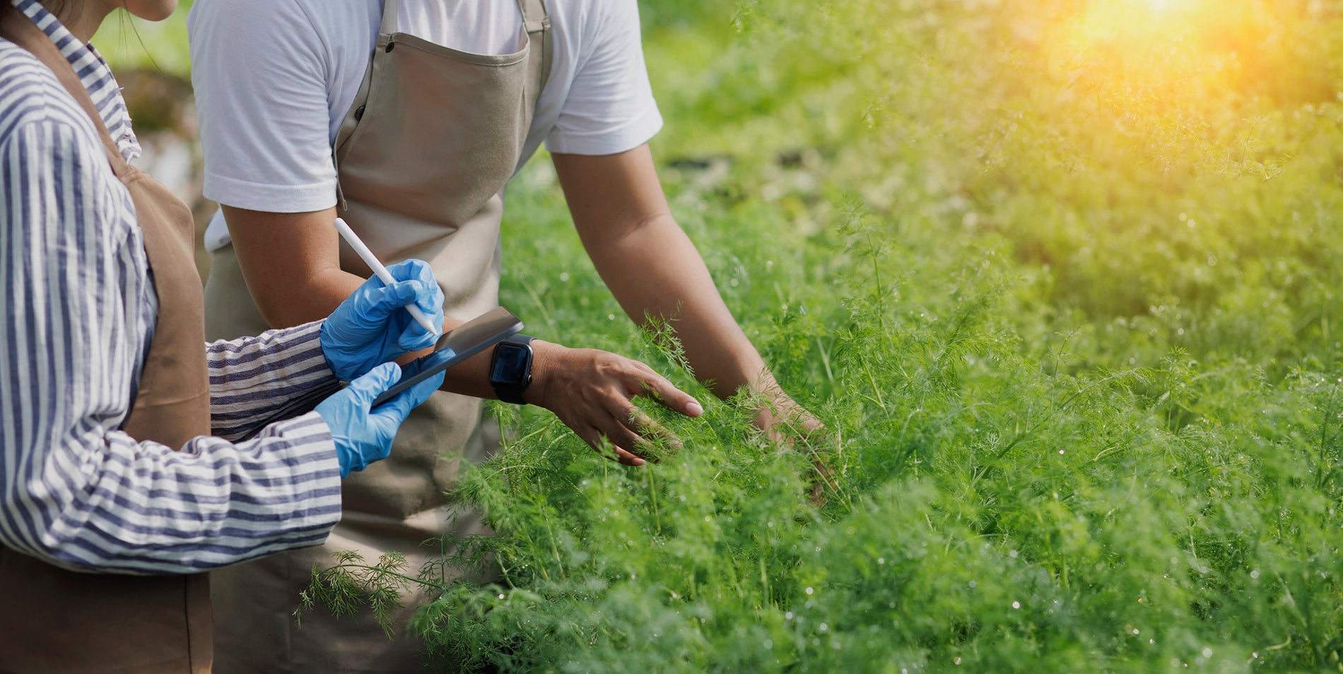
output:
POLYGON ((598 274, 638 324, 645 313, 674 318, 677 337, 700 380, 719 397, 743 385, 760 392, 770 428, 776 414, 800 415, 803 430, 819 426, 775 381, 760 353, 723 302, 704 259, 672 218, 647 145, 619 154, 553 154, 573 224, 598 274))

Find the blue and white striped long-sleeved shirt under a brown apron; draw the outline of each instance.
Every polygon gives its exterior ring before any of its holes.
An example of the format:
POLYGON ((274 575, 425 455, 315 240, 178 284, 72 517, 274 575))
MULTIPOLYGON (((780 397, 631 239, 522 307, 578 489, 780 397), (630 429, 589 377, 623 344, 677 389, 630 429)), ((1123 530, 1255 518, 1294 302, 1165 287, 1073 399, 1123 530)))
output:
MULTIPOLYGON (((136 156, 98 52, 36 0, 0 1, 55 42, 122 154, 136 156)), ((326 538, 340 469, 321 416, 232 442, 333 381, 321 324, 207 346, 216 436, 165 447, 120 430, 157 317, 134 205, 83 109, 4 39, 0 283, 0 544, 68 569, 154 575, 326 538)))

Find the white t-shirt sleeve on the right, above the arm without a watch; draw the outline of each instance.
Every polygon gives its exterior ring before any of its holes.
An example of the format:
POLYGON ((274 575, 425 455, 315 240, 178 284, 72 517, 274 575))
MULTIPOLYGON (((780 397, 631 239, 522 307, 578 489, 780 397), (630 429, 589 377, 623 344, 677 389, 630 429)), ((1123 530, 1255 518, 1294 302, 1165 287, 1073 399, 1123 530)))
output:
POLYGON ((577 70, 555 129, 551 152, 615 154, 643 145, 662 129, 643 63, 635 0, 592 3, 577 70))

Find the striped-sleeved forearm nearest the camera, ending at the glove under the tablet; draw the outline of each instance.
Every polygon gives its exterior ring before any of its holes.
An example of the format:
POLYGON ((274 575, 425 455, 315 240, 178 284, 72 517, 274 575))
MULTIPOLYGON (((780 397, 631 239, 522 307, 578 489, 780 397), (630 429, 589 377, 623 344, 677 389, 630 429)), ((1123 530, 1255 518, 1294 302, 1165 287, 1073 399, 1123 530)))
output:
POLYGON ((79 426, 27 447, 0 540, 77 571, 189 573, 314 545, 340 520, 340 469, 316 414, 181 451, 79 426))

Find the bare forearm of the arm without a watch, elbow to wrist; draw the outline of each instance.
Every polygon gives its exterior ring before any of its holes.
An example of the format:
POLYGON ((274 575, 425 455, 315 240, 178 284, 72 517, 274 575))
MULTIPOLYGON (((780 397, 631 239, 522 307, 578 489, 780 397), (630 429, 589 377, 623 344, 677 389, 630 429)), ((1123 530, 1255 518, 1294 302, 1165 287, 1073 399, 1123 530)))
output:
POLYGON ((760 353, 723 302, 694 243, 670 213, 630 227, 619 236, 583 236, 592 263, 620 307, 637 324, 672 320, 686 358, 714 395, 748 385, 774 388, 760 353))

